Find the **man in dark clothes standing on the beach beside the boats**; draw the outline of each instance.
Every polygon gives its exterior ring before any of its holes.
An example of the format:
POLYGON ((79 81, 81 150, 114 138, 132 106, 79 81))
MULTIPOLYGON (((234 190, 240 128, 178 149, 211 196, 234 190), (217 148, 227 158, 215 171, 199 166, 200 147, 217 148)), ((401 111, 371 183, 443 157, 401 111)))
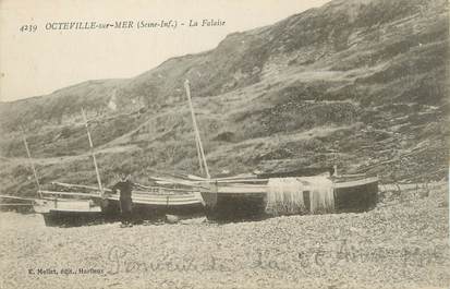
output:
POLYGON ((132 209, 133 209, 133 201, 132 201, 132 189, 133 183, 130 181, 130 174, 121 171, 120 181, 112 186, 112 193, 115 194, 118 191, 120 192, 120 217, 122 225, 121 227, 133 227, 132 224, 132 209))

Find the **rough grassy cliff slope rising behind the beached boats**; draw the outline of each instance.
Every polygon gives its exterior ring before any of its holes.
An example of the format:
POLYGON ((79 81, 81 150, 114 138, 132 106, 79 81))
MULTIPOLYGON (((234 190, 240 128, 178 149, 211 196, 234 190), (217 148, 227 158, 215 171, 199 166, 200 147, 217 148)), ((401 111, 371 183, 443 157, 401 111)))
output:
POLYGON ((335 0, 134 79, 0 104, 0 190, 33 188, 19 125, 44 181, 95 183, 81 107, 106 182, 123 166, 142 181, 153 170, 198 173, 185 79, 212 174, 338 162, 386 180, 440 179, 448 27, 445 0, 335 0))

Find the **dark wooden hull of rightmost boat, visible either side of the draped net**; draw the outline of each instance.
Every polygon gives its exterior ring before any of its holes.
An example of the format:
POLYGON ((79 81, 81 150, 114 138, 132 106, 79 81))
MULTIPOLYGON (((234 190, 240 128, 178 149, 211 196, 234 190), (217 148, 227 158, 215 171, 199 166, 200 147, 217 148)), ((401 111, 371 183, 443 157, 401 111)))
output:
MULTIPOLYGON (((267 186, 264 185, 219 186, 209 192, 202 192, 202 196, 205 201, 208 219, 242 220, 270 216, 265 210, 267 186)), ((378 179, 335 180, 333 196, 335 213, 372 209, 377 203, 378 179)), ((307 208, 309 207, 307 206, 307 208)))

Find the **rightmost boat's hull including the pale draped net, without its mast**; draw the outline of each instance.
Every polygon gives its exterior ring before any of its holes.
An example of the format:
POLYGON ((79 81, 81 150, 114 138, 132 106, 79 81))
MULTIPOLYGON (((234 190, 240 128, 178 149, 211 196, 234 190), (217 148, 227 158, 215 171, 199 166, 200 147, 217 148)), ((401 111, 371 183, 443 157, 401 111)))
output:
POLYGON ((202 196, 208 219, 217 220, 364 212, 375 207, 378 195, 378 178, 291 177, 258 184, 214 182, 210 185, 211 190, 202 192, 202 196))

